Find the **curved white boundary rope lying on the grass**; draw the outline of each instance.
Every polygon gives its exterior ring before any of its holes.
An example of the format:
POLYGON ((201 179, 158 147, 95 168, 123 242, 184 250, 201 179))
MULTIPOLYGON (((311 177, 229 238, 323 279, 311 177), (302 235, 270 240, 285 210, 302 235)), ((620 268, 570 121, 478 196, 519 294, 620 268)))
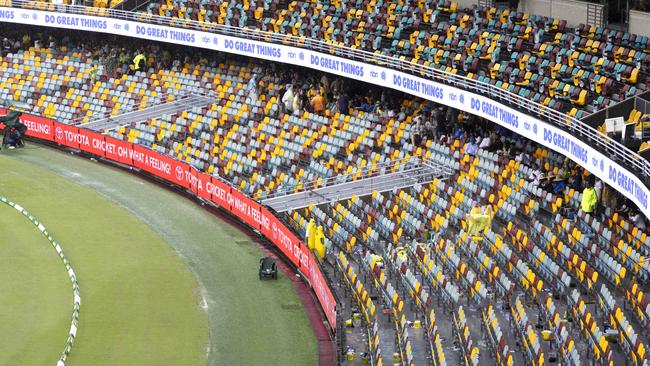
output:
POLYGON ((47 238, 47 240, 50 242, 50 244, 52 244, 52 247, 54 247, 54 250, 56 250, 57 254, 61 258, 61 261, 65 265, 65 269, 68 272, 68 276, 70 277, 70 282, 72 282, 72 294, 73 294, 72 321, 70 322, 70 331, 68 332, 68 339, 65 342, 65 348, 63 349, 63 352, 61 352, 61 357, 59 357, 59 360, 56 363, 56 366, 65 366, 65 362, 68 360, 70 351, 72 351, 72 345, 74 344, 74 339, 77 336, 77 327, 79 325, 79 308, 81 307, 81 296, 79 294, 79 284, 77 283, 77 275, 75 275, 74 270, 72 269, 72 266, 68 261, 68 258, 66 258, 65 254, 63 254, 63 249, 61 249, 61 246, 56 242, 56 240, 54 240, 54 238, 52 237, 52 235, 50 235, 50 233, 47 231, 45 226, 43 226, 43 224, 41 224, 38 221, 38 219, 34 217, 34 215, 32 215, 29 211, 27 211, 19 204, 8 200, 6 197, 0 196, 0 201, 13 207, 13 209, 23 214, 23 216, 27 217, 27 219, 31 221, 31 223, 38 228, 38 230, 43 234, 43 236, 47 238))

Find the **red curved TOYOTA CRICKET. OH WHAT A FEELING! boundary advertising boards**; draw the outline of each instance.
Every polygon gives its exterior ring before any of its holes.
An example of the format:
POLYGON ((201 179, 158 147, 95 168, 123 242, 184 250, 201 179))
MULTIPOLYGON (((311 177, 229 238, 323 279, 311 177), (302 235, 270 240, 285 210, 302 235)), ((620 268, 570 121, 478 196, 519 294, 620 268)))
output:
MULTIPOLYGON (((0 114, 5 111, 0 109, 0 114)), ((325 276, 307 246, 277 217, 258 202, 226 182, 189 164, 97 132, 23 114, 27 136, 73 149, 148 172, 169 183, 186 188, 197 197, 229 211, 268 238, 306 277, 333 331, 336 331, 336 300, 325 276)), ((2 127, 2 124, 0 124, 2 127)))

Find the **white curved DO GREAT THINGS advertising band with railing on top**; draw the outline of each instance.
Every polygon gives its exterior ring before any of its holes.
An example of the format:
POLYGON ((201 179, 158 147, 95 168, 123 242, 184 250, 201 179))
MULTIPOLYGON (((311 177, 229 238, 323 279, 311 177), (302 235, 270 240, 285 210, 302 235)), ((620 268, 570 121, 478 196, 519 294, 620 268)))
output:
POLYGON ((650 162, 579 120, 498 86, 386 55, 256 29, 23 0, 8 5, 14 7, 0 7, 0 22, 109 33, 282 62, 467 111, 569 157, 650 217, 650 189, 644 183, 650 177, 650 162))

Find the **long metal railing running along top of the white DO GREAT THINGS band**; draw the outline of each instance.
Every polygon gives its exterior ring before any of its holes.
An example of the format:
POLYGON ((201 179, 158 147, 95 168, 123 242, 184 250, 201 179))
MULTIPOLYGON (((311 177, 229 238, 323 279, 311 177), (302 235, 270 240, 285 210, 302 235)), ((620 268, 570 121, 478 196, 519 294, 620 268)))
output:
POLYGON ((387 50, 377 51, 376 53, 354 49, 338 44, 328 43, 325 40, 316 40, 311 38, 299 37, 290 34, 278 34, 274 32, 263 31, 259 29, 240 28, 230 25, 199 22, 174 17, 164 17, 142 12, 128 12, 116 9, 90 8, 75 5, 54 5, 51 3, 13 0, 10 5, 16 8, 28 8, 36 10, 49 10, 65 12, 70 14, 93 15, 110 17, 121 20, 130 20, 149 24, 165 25, 184 29, 193 29, 203 32, 211 32, 220 35, 239 37, 262 42, 278 43, 288 46, 309 49, 312 51, 323 52, 335 56, 340 56, 350 60, 365 62, 377 66, 388 67, 393 70, 403 71, 409 74, 428 77, 431 80, 438 81, 447 85, 456 86, 464 90, 475 91, 480 94, 492 97, 512 106, 521 111, 528 112, 544 121, 552 123, 555 126, 563 128, 572 134, 580 137, 584 142, 589 143, 592 147, 600 150, 610 156, 626 169, 631 169, 641 180, 650 177, 650 162, 642 158, 636 152, 623 146, 621 143, 613 140, 609 136, 599 132, 595 128, 586 125, 580 120, 568 116, 565 113, 556 111, 547 106, 538 104, 528 98, 519 96, 508 90, 503 90, 498 86, 480 82, 462 75, 449 73, 434 67, 420 65, 409 60, 402 60, 398 57, 387 55, 387 50))

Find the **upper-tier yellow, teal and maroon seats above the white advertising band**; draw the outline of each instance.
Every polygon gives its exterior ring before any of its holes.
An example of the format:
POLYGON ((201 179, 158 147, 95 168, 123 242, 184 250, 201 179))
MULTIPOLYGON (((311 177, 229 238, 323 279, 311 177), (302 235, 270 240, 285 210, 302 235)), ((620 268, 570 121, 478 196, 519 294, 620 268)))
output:
POLYGON ((578 118, 647 90, 647 37, 445 0, 164 1, 149 14, 324 40, 495 85, 578 118))

